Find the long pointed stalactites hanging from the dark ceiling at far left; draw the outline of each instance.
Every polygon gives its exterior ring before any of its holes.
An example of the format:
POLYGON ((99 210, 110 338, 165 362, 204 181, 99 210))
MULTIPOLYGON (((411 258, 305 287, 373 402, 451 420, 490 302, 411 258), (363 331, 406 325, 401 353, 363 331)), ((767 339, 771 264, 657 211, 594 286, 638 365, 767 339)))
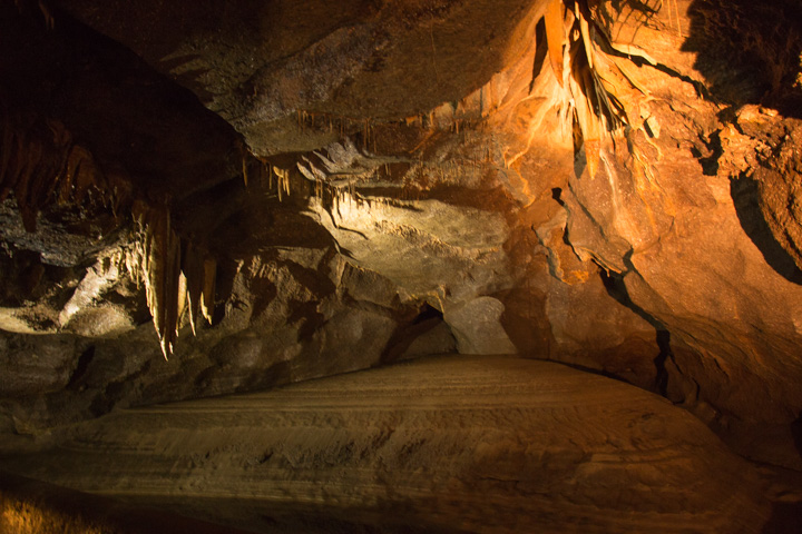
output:
MULTIPOLYGON (((26 230, 33 233, 39 212, 52 204, 97 202, 116 216, 129 212, 137 225, 135 245, 116 254, 121 271, 144 283, 147 303, 168 357, 180 324, 193 333, 200 317, 211 323, 216 261, 209 253, 180 238, 166 204, 133 200, 130 181, 101 171, 92 154, 75 142, 55 119, 0 116, 0 201, 13 197, 26 230)), ((280 174, 282 187, 287 174, 280 174)))

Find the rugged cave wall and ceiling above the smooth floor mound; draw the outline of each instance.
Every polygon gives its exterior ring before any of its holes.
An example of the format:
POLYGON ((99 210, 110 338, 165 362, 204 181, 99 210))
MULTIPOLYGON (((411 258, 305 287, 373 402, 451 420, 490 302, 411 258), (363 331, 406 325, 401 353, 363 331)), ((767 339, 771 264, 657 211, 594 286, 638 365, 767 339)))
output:
POLYGON ((517 353, 802 468, 794 2, 46 3, 0 2, 3 447, 517 353))

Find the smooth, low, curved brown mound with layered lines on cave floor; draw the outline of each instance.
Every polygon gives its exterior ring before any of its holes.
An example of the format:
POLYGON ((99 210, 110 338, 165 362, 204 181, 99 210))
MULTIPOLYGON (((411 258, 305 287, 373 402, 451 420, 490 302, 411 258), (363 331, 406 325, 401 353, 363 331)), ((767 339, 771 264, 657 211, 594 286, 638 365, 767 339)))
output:
POLYGON ((281 505, 390 532, 736 533, 767 521, 752 467, 686 412, 512 356, 120 411, 0 465, 257 532, 276 532, 281 505))

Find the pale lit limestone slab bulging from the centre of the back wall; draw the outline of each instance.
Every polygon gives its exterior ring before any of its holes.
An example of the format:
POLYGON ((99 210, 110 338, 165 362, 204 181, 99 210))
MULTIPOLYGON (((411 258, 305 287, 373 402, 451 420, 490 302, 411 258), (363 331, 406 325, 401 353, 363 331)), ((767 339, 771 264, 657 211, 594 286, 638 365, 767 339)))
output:
POLYGON ((501 245, 508 228, 493 211, 438 200, 407 206, 346 196, 335 209, 314 202, 320 224, 360 266, 413 296, 475 296, 509 284, 501 245))

